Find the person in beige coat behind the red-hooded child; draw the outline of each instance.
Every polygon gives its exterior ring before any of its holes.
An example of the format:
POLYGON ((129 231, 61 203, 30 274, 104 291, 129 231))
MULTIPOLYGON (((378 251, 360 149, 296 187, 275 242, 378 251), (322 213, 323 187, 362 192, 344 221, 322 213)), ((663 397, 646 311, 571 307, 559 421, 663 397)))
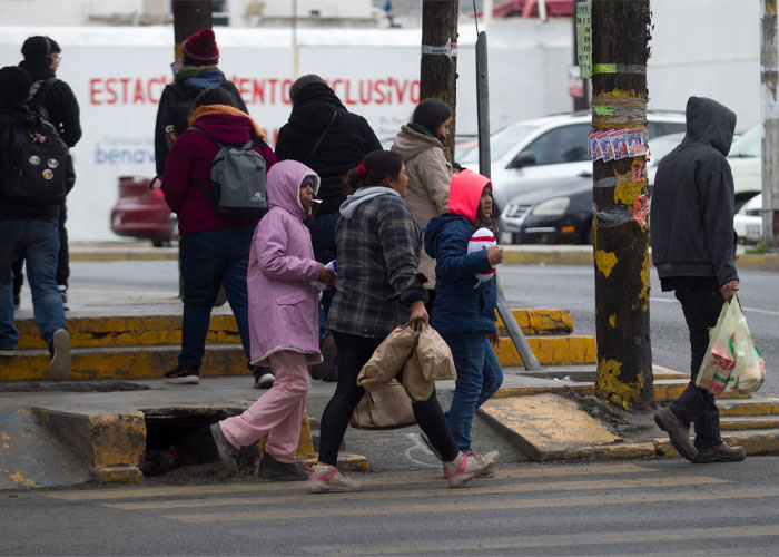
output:
MULTIPOLYGON (((425 227, 431 218, 446 213, 452 163, 446 158, 444 141, 448 138, 452 109, 443 100, 425 99, 412 115, 412 121, 401 127, 392 150, 403 157, 408 175, 406 202, 416 222, 425 227)), ((427 282, 428 307, 435 297, 435 260, 424 251, 420 272, 427 282)))

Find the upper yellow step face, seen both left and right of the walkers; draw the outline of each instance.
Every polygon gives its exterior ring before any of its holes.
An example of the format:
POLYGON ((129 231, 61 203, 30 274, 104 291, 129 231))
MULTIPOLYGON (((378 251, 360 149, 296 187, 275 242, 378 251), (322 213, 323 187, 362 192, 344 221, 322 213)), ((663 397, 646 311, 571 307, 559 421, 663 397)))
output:
MULTIPOLYGON (((565 310, 512 310, 514 319, 525 335, 570 334, 573 320, 565 310)), ((507 335, 499 316, 502 334, 507 335)), ((31 319, 16 323, 20 338, 17 348, 45 349, 38 328, 31 319)), ((124 317, 68 319, 73 348, 141 346, 179 344, 181 342, 181 315, 147 315, 124 317)), ((233 315, 211 315, 208 338, 211 344, 238 343, 238 326, 233 315)))

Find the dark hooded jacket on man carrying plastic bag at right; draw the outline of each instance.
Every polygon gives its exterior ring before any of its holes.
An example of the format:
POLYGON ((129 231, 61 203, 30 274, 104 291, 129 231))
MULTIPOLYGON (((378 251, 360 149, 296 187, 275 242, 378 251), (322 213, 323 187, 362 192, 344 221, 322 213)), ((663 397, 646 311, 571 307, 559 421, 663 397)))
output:
POLYGON ((690 97, 687 135, 658 166, 651 205, 652 261, 661 280, 738 278, 734 264, 733 176, 726 156, 736 115, 690 97))

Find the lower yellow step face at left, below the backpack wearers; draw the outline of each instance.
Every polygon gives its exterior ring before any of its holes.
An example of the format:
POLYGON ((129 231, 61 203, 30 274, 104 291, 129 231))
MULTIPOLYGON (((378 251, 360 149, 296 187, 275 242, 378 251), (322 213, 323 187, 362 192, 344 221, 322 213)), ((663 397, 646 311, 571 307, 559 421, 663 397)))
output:
MULTIPOLYGON (((70 380, 142 379, 161 377, 178 363, 178 345, 110 346, 73 349, 70 380)), ((0 381, 48 379, 49 353, 46 350, 18 351, 16 358, 3 358, 0 381)), ((201 375, 246 373, 246 355, 239 345, 209 344, 200 368, 201 375)))

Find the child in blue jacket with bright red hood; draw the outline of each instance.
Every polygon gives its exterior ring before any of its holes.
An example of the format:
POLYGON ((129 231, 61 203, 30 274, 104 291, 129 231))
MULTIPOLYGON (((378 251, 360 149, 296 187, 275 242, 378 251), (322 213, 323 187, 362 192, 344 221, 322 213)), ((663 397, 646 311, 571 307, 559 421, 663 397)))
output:
MULTIPOLYGON (((469 241, 481 227, 491 227, 492 184, 471 170, 452 177, 448 213, 433 218, 425 229, 425 251, 435 258, 435 301, 431 324, 452 349, 457 381, 446 420, 454 441, 471 451, 471 424, 476 409, 503 383, 503 371, 491 344, 497 345, 495 325, 496 278, 490 273, 503 261, 503 248, 467 253, 469 241), (481 282, 481 284, 480 284, 481 282)), ((493 461, 497 452, 484 455, 493 461)))

